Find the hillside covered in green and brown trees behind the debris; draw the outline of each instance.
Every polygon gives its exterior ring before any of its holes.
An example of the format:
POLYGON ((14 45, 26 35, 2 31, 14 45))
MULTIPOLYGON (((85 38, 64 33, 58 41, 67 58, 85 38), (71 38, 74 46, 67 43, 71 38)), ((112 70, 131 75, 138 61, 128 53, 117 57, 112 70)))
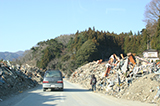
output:
MULTIPOLYGON (((40 41, 24 52, 20 64, 39 68, 60 69, 71 75, 76 68, 94 60, 106 61, 112 54, 131 52, 141 56, 147 49, 145 29, 141 33, 116 34, 88 28, 75 34, 61 35, 55 39, 40 41)), ((156 48, 155 48, 156 49, 156 48)), ((158 50, 158 49, 157 49, 158 50)))

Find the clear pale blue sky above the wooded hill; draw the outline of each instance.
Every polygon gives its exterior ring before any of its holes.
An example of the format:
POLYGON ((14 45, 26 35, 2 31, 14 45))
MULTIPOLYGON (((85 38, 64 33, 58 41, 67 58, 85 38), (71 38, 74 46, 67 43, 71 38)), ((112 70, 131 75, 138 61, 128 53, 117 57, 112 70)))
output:
POLYGON ((145 28, 151 0, 0 0, 0 52, 29 50, 40 41, 89 27, 114 33, 145 28))

